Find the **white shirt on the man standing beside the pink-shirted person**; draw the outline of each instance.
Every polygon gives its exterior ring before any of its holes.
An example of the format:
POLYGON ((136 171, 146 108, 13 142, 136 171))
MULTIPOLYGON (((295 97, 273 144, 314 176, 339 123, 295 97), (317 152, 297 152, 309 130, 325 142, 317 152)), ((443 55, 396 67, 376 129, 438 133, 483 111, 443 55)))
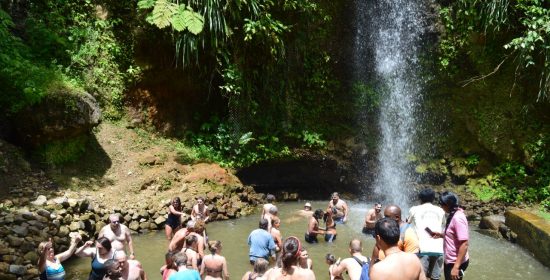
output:
POLYGON ((437 253, 443 254, 443 239, 432 238, 425 230, 429 227, 434 232, 443 232, 445 226, 445 211, 441 207, 431 203, 424 203, 413 206, 409 210, 409 218, 413 229, 418 236, 418 247, 420 253, 437 253))

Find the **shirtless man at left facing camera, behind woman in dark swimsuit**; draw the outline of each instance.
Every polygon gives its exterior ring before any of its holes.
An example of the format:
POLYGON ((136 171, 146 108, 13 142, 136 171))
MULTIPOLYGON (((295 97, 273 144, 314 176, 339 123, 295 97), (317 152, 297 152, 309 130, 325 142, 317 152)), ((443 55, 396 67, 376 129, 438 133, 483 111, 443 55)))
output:
POLYGON ((135 259, 130 229, 120 223, 120 216, 118 214, 111 214, 109 216, 109 224, 104 226, 97 236, 97 238, 100 237, 109 239, 109 241, 111 241, 111 247, 116 251, 125 251, 127 245, 128 252, 130 252, 130 259, 135 259))

